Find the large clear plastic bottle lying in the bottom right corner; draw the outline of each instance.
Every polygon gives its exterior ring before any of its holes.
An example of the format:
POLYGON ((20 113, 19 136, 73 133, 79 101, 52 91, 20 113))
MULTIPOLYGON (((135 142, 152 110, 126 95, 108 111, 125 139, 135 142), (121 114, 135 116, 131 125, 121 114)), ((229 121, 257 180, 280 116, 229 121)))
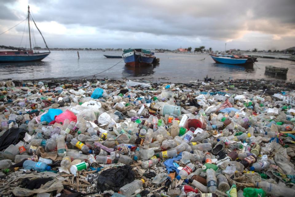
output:
POLYGON ((256 183, 256 187, 262 188, 267 194, 275 197, 294 197, 295 190, 288 187, 280 187, 273 183, 261 181, 256 183))

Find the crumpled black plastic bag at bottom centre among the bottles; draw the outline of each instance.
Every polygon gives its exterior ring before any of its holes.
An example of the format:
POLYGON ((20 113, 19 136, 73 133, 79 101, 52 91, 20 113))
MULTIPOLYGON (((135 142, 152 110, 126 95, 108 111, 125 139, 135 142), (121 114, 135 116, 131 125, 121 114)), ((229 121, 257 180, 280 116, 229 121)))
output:
POLYGON ((129 165, 104 170, 97 178, 97 191, 113 190, 118 192, 121 187, 131 183, 134 179, 134 171, 129 165))

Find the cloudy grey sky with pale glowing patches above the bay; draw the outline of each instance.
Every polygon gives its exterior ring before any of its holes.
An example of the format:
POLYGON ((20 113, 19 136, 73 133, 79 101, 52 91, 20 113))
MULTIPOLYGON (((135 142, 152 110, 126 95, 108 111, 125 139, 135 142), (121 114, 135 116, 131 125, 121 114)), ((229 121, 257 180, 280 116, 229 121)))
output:
MULTIPOLYGON (((295 46, 294 0, 0 0, 0 34, 26 18, 28 5, 50 48, 295 46)), ((0 45, 28 46, 26 26, 0 35, 0 45)))

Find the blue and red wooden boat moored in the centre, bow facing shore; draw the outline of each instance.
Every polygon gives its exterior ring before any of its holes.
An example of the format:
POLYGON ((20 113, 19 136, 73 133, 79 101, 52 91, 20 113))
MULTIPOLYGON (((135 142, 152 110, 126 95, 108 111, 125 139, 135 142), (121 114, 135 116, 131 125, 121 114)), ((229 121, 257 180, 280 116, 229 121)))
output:
POLYGON ((124 49, 123 59, 125 64, 134 67, 148 66, 157 62, 155 51, 147 49, 124 49))

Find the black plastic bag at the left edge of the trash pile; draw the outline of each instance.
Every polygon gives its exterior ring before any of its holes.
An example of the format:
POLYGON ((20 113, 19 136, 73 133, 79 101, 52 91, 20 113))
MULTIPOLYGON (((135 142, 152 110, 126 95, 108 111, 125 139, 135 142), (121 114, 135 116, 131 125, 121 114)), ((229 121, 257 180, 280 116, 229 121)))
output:
POLYGON ((6 149, 10 144, 17 144, 19 141, 23 140, 26 132, 25 129, 20 128, 10 128, 0 137, 0 151, 6 149))

